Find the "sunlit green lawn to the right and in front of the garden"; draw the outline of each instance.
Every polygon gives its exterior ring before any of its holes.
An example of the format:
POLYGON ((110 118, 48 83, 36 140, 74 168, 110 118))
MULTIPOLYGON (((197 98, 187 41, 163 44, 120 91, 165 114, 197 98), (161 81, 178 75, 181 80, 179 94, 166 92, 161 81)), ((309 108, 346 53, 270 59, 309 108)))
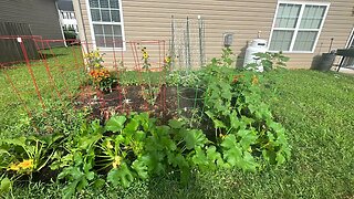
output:
MULTIPOLYGON (((65 60, 63 55, 61 61, 65 60)), ((24 78, 24 74, 18 80, 24 78)), ((337 73, 300 70, 264 75, 262 86, 268 93, 264 100, 285 126, 292 146, 292 157, 282 167, 264 168, 257 174, 238 170, 195 174, 188 186, 181 186, 176 175, 167 175, 135 181, 128 189, 84 190, 77 198, 354 198, 353 84, 353 76, 337 73), (270 97, 273 92, 275 97, 270 97)), ((10 91, 1 88, 4 101, 0 105, 0 119, 7 126, 15 123, 17 114, 21 113, 10 91), (8 107, 11 109, 7 111, 8 107)), ((28 100, 35 101, 35 96, 28 100)), ((62 187, 56 182, 33 182, 15 187, 13 195, 60 198, 62 187)))

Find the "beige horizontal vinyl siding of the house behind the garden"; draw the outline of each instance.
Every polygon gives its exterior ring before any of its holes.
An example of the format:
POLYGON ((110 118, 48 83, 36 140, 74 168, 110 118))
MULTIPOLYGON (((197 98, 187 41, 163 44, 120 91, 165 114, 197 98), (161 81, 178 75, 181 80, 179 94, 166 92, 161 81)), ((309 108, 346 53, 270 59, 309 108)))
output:
MULTIPOLYGON (((79 15, 79 3, 81 4, 84 32, 87 42, 91 43, 86 2, 87 0, 74 0, 74 9, 79 15)), ((198 15, 201 15, 206 27, 207 60, 220 55, 222 34, 230 32, 233 33, 231 48, 238 55, 238 65, 241 65, 247 43, 257 38, 259 31, 261 31, 262 39, 269 40, 277 2, 277 0, 123 0, 125 40, 169 41, 171 14, 176 19, 186 19, 187 17, 197 19, 198 15)), ((315 55, 329 51, 331 38, 334 38, 332 49, 344 48, 354 25, 353 0, 317 0, 313 2, 331 2, 323 30, 314 53, 287 53, 291 57, 290 67, 309 69, 315 55)), ((80 19, 77 20, 80 21, 80 19)), ((79 27, 83 29, 82 21, 79 22, 79 27)), ((131 54, 128 51, 127 49, 126 53, 131 54)), ((112 53, 107 52, 108 60, 110 56, 112 53)))

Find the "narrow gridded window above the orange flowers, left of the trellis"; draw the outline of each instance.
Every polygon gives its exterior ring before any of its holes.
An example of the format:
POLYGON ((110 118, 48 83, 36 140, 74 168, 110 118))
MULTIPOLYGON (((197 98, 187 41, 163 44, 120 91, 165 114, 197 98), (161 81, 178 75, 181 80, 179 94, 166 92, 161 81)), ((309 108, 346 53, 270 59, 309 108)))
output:
POLYGON ((88 3, 96 46, 123 49, 119 0, 88 0, 88 3))

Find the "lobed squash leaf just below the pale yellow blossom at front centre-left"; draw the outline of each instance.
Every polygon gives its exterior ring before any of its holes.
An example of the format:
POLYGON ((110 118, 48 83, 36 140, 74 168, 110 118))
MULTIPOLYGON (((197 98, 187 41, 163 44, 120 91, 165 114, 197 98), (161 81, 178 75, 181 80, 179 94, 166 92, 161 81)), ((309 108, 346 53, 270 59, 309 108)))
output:
POLYGON ((124 188, 127 188, 133 180, 133 174, 125 163, 119 168, 112 169, 107 175, 107 181, 115 187, 122 185, 124 188))

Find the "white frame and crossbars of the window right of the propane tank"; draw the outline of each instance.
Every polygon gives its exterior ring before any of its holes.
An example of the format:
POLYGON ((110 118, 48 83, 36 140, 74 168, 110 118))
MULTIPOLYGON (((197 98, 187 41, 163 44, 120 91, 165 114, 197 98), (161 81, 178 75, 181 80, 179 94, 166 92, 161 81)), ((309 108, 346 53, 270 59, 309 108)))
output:
MULTIPOLYGON (((319 42, 319 39, 320 39, 320 34, 322 33, 322 28, 323 28, 324 22, 326 20, 331 3, 330 2, 316 2, 316 1, 313 1, 313 2, 312 1, 291 1, 291 0, 290 1, 288 1, 288 0, 278 1, 277 8, 275 8, 275 13, 274 13, 274 17, 273 17, 272 29, 271 29, 271 32, 270 32, 270 35, 269 35, 269 42, 268 42, 268 46, 267 46, 268 49, 270 46, 270 43, 272 42, 271 40, 272 40, 272 36, 273 36, 274 29, 275 30, 294 30, 294 35, 292 36, 292 41, 291 41, 291 44, 290 44, 290 50, 293 49, 295 40, 296 40, 296 36, 298 36, 299 28, 300 28, 300 24, 301 24, 301 22, 299 22, 299 21, 296 22, 296 27, 294 29, 291 29, 291 28, 275 28, 278 10, 279 10, 279 6, 281 3, 301 4, 301 10, 300 10, 300 13, 299 13, 299 19, 300 20, 302 19, 303 10, 304 10, 306 4, 309 4, 309 6, 325 6, 326 7, 326 9, 324 11, 323 20, 322 20, 321 25, 320 25, 320 29, 301 29, 301 30, 304 30, 304 31, 306 31, 306 30, 309 30, 309 31, 310 30, 311 31, 319 31, 319 33, 316 35, 316 39, 314 41, 312 51, 282 51, 283 53, 302 53, 302 54, 314 53, 314 51, 316 49, 316 45, 317 45, 317 42, 319 42)), ((279 51, 269 51, 269 52, 279 52, 279 51)))

